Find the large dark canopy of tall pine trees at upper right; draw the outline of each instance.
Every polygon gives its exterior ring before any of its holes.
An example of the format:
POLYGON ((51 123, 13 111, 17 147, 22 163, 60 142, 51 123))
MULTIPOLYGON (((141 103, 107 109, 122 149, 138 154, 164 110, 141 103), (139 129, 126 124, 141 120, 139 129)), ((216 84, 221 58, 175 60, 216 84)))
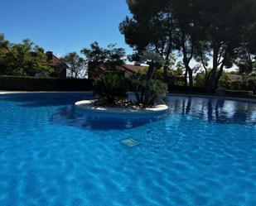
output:
POLYGON ((127 2, 133 16, 126 17, 119 26, 125 41, 138 54, 144 49, 157 52, 166 65, 173 50, 180 52, 191 89, 193 59, 205 69, 208 92, 218 86, 225 68, 234 64, 251 65, 250 60, 256 54, 255 1, 127 2), (210 73, 208 65, 212 65, 210 73))

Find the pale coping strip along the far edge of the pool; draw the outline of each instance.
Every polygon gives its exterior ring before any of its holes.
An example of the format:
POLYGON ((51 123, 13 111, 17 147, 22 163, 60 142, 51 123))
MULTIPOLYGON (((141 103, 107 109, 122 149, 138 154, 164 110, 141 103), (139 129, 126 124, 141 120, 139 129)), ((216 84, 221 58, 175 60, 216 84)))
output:
MULTIPOLYGON (((91 94, 91 91, 4 91, 0 90, 1 94, 15 94, 15 93, 88 93, 91 94)), ((132 93, 132 92, 131 92, 132 93)), ((194 97, 194 98, 219 98, 225 100, 234 100, 234 101, 243 101, 249 103, 256 103, 254 98, 234 98, 234 97, 225 97, 217 95, 202 95, 202 94, 186 94, 186 93, 167 93, 167 96, 181 96, 181 97, 194 97)))

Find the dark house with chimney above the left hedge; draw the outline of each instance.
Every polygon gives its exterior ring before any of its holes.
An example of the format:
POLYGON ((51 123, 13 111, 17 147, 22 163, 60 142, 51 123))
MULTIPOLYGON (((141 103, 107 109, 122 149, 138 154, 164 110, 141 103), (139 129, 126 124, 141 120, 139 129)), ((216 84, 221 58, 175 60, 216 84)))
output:
POLYGON ((66 78, 66 69, 68 68, 52 51, 46 51, 46 62, 47 65, 54 69, 51 77, 55 78, 66 78))

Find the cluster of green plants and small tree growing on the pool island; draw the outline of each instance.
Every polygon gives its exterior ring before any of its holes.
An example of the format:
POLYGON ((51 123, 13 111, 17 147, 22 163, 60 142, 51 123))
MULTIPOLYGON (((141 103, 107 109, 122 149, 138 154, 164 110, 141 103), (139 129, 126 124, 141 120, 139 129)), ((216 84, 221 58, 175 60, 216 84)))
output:
POLYGON ((166 95, 167 84, 153 79, 153 70, 162 67, 162 57, 153 52, 144 52, 141 60, 147 62, 147 74, 134 74, 130 79, 109 72, 94 80, 96 104, 112 107, 153 107, 160 95, 166 95), (133 86, 136 101, 128 100, 128 81, 133 86))

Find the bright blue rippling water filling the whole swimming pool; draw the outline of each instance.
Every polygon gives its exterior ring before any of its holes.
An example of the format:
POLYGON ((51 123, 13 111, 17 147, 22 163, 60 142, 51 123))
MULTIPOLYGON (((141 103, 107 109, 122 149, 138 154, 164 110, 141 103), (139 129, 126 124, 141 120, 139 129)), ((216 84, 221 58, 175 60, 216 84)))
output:
POLYGON ((170 96, 131 119, 85 98, 0 95, 0 205, 256 205, 256 104, 170 96))

